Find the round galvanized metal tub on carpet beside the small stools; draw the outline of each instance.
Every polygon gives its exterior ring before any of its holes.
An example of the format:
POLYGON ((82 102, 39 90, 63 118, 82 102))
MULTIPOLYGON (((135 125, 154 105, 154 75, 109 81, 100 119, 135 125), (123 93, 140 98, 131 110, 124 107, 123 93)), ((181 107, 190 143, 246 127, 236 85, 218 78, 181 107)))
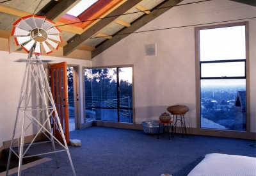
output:
POLYGON ((145 121, 142 122, 141 125, 143 126, 143 130, 146 134, 154 135, 158 134, 158 132, 160 134, 163 133, 163 127, 161 126, 159 131, 159 124, 157 124, 157 121, 145 121))

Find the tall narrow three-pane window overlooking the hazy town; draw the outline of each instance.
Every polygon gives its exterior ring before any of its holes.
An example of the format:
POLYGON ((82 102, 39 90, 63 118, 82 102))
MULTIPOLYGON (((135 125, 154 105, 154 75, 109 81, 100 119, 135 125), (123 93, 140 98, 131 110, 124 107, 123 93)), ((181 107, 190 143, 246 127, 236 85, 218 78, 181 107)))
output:
POLYGON ((246 23, 196 28, 200 127, 246 131, 246 23))

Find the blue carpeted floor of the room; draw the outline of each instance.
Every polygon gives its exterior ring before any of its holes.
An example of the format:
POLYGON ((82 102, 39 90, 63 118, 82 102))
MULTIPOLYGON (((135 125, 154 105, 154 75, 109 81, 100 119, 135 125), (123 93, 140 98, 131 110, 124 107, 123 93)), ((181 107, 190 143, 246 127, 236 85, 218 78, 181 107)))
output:
MULTIPOLYGON (((176 134, 168 140, 165 134, 157 140, 157 136, 143 131, 90 127, 70 132, 70 139, 79 139, 82 143, 81 147, 68 147, 77 176, 160 176, 161 173, 183 176, 188 175, 205 154, 256 157, 256 147, 250 146, 255 141, 233 138, 195 135, 182 138, 176 134)), ((51 150, 51 143, 31 148, 31 154, 39 148, 51 150)), ((58 169, 53 154, 45 157, 53 159, 22 171, 22 175, 73 175, 67 152, 58 153, 58 169)))

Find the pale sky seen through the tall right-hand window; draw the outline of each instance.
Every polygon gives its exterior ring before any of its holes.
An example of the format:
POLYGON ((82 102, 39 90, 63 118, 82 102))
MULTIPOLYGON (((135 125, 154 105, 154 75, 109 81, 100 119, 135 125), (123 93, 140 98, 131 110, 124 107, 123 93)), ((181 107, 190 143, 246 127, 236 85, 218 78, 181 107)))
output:
MULTIPOLYGON (((246 59, 245 26, 200 30, 200 61, 241 59, 246 59)), ((202 63, 201 76, 245 76, 244 61, 202 63)), ((245 84, 244 80, 204 80, 201 84, 245 84)))

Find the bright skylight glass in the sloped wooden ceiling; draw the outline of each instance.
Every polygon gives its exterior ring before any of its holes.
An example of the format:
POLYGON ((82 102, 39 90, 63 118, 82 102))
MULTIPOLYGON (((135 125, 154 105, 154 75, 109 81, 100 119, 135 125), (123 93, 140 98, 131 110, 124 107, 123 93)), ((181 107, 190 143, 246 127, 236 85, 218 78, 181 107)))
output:
POLYGON ((77 17, 97 1, 98 0, 82 0, 80 3, 76 4, 76 6, 74 6, 72 9, 70 9, 67 12, 67 14, 77 17))

